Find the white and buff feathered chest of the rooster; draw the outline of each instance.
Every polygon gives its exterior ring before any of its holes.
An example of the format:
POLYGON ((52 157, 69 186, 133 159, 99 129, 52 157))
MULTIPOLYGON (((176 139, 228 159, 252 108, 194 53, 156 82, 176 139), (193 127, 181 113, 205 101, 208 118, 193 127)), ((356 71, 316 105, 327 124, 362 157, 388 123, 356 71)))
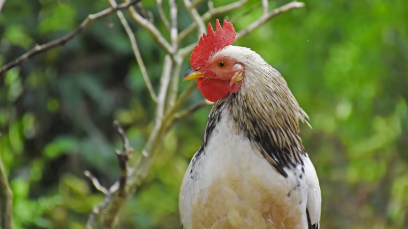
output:
POLYGON ((180 193, 185 228, 304 228, 300 167, 287 169, 287 178, 277 173, 226 112, 188 171, 180 193))

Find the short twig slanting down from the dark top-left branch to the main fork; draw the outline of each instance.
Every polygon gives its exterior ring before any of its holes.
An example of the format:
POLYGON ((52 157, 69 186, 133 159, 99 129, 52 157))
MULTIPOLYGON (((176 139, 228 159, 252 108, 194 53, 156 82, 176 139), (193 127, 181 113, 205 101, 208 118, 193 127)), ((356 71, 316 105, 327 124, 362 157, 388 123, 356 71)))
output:
MULTIPOLYGON (((126 2, 129 0, 126 0, 126 2)), ((162 46, 162 48, 169 54, 174 54, 175 50, 171 45, 167 42, 167 40, 163 37, 163 35, 160 33, 158 28, 152 24, 149 20, 143 18, 138 12, 136 12, 134 7, 129 7, 129 11, 131 13, 131 17, 133 20, 138 23, 141 27, 143 27, 147 32, 150 33, 150 35, 153 37, 153 39, 156 40, 156 42, 162 46)))

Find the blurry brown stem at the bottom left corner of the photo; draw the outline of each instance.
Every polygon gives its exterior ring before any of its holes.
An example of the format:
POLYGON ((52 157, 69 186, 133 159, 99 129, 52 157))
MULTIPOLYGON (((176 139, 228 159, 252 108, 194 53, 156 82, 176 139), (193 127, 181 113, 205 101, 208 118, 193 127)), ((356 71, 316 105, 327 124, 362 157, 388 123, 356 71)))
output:
MULTIPOLYGON (((0 134, 1 136, 1 134, 0 134)), ((11 229, 13 218, 13 192, 11 191, 6 169, 0 156, 0 228, 11 229)))

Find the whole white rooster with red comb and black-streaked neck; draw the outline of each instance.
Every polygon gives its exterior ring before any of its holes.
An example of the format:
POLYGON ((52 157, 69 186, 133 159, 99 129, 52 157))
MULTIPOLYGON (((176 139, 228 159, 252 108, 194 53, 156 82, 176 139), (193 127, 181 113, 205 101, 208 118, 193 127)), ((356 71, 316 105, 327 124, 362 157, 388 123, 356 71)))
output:
POLYGON ((209 23, 184 76, 214 105, 183 179, 183 227, 317 229, 319 181, 298 135, 308 116, 277 70, 231 45, 235 36, 232 23, 216 20, 216 32, 209 23))

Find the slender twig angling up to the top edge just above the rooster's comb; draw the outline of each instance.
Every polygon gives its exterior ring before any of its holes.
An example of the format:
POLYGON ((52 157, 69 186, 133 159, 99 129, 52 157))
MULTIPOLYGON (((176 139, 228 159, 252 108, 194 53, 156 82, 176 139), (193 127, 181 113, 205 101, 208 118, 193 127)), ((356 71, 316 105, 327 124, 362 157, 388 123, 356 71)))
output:
MULTIPOLYGON (((217 7, 217 8, 212 8, 207 13, 203 14, 201 16, 202 21, 208 21, 210 18, 212 18, 215 15, 218 14, 223 14, 228 11, 232 11, 235 9, 238 9, 245 5, 249 0, 240 0, 238 2, 234 2, 225 6, 217 7)), ((182 32, 179 34, 179 42, 183 41, 188 35, 194 32, 195 28, 197 27, 197 22, 194 21, 191 23, 187 28, 185 28, 182 32)))

